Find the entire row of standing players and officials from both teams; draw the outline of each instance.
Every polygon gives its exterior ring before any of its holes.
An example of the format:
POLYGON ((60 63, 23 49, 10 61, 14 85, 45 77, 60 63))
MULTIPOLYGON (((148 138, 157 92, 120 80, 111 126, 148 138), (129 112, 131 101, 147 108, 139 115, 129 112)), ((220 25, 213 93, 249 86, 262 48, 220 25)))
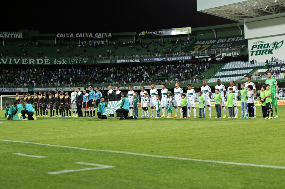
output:
MULTIPOLYGON (((272 73, 268 72, 267 74, 268 79, 266 80, 266 84, 270 85, 270 90, 272 91, 272 101, 273 101, 273 106, 275 106, 275 111, 276 111, 276 116, 274 118, 278 118, 278 108, 277 108, 277 102, 276 102, 276 94, 278 94, 278 86, 277 86, 277 82, 274 78, 272 78, 272 73), (275 94, 276 92, 276 94, 275 94)), ((210 97, 212 96, 212 91, 211 88, 207 85, 206 81, 204 80, 202 82, 203 86, 201 87, 201 91, 202 91, 202 96, 204 98, 204 112, 205 112, 205 107, 208 107, 208 112, 209 112, 209 118, 211 118, 211 107, 210 107, 210 97)), ((230 82, 230 87, 232 88, 233 91, 232 93, 235 95, 235 99, 234 99, 234 108, 235 108, 235 118, 237 118, 238 116, 238 108, 237 108, 237 97, 238 97, 238 88, 234 86, 235 82, 231 81, 230 82)), ((254 93, 256 92, 256 88, 253 82, 251 82, 251 76, 247 76, 246 77, 246 83, 244 83, 244 88, 247 90, 248 85, 252 85, 253 86, 253 91, 254 93)), ((196 118, 196 108, 195 108, 195 98, 196 98, 196 93, 195 90, 191 87, 191 84, 187 85, 188 91, 187 91, 187 112, 188 112, 188 117, 190 118, 190 113, 191 113, 191 108, 193 109, 194 112, 194 118, 196 118)), ((229 94, 229 88, 228 88, 228 94, 229 94)), ((109 94, 111 90, 111 86, 108 87, 109 89, 109 94)), ((218 79, 217 80, 217 85, 215 86, 215 89, 219 90, 219 93, 221 94, 221 106, 223 109, 223 118, 226 118, 226 108, 225 108, 225 96, 226 96, 226 88, 224 85, 221 84, 221 80, 218 79)), ((33 99, 33 97, 29 94, 26 93, 23 94, 24 97, 24 101, 27 101, 29 104, 34 104, 36 106, 36 116, 40 116, 39 114, 39 109, 41 110, 41 116, 42 117, 47 117, 47 98, 49 98, 50 101, 50 117, 54 116, 54 109, 56 109, 56 114, 58 114, 58 109, 60 109, 60 114, 59 117, 67 117, 68 116, 68 112, 69 112, 69 117, 71 117, 71 112, 70 112, 70 105, 72 104, 72 112, 73 112, 73 116, 72 117, 77 117, 78 116, 78 112, 77 109, 79 109, 79 111, 81 111, 81 114, 79 115, 79 117, 82 117, 82 109, 81 109, 81 104, 82 101, 78 101, 77 100, 77 93, 75 92, 75 89, 72 88, 73 92, 71 93, 71 96, 68 96, 68 92, 66 92, 66 96, 63 95, 63 91, 61 91, 61 94, 58 94, 58 91, 55 90, 55 96, 53 96, 50 92, 47 93, 48 97, 46 96, 46 93, 44 92, 44 95, 41 95, 41 92, 39 92, 39 95, 37 95, 37 93, 35 92, 35 97, 33 99), (79 103, 78 103, 79 102, 79 103), (76 106, 75 104, 80 104, 80 107, 76 106), (64 110, 66 109, 66 115, 64 110), (43 112, 43 115, 42 115, 43 112), (46 113, 46 114, 45 114, 46 113)), ((85 112, 85 117, 95 117, 95 109, 94 109, 94 104, 96 104, 96 108, 98 111, 98 104, 100 103, 100 98, 102 97, 102 93, 99 91, 99 88, 96 88, 96 93, 95 91, 92 90, 92 87, 88 87, 89 90, 89 94, 86 93, 86 91, 83 91, 83 108, 84 108, 84 112, 85 112), (88 115, 86 116, 86 112, 88 113, 88 115), (92 112, 93 112, 93 116, 92 116, 92 112), (90 116, 89 116, 90 113, 90 116)), ((80 88, 77 89, 78 93, 80 92, 80 88)), ((166 88, 165 84, 162 84, 162 90, 161 90, 161 107, 162 107, 162 116, 161 117, 165 117, 165 109, 169 109, 166 105, 167 102, 169 104, 169 102, 173 101, 173 106, 175 109, 175 116, 173 116, 172 118, 177 118, 177 113, 178 113, 178 108, 180 110, 180 118, 182 118, 183 116, 183 111, 182 111, 182 94, 183 94, 183 90, 182 88, 180 88, 180 83, 177 82, 175 83, 175 88, 173 91, 173 99, 172 99, 172 95, 171 98, 169 97, 168 93, 169 91, 166 88), (178 107, 178 108, 177 108, 178 107)), ((129 91, 127 93, 127 96, 129 98, 130 101, 130 116, 132 116, 134 114, 134 91, 132 90, 132 86, 129 86, 129 91)), ((81 93, 82 94, 82 93, 81 93)), ((120 100, 121 99, 121 91, 119 91, 119 87, 116 87, 116 92, 115 94, 113 93, 113 100, 114 100, 114 95, 115 95, 115 100, 120 100)), ((141 98, 141 107, 142 107, 142 116, 141 117, 154 117, 154 107, 156 106, 156 96, 159 96, 157 89, 155 89, 155 85, 152 84, 151 85, 151 89, 150 89, 150 97, 148 95, 148 92, 145 91, 145 87, 141 87, 141 92, 140 92, 140 96, 141 98), (151 116, 148 115, 148 107, 146 106, 146 100, 143 100, 143 97, 145 95, 145 93, 147 94, 147 97, 149 98, 149 103, 151 106, 151 116), (146 112, 146 114, 145 114, 146 112)), ((109 99, 109 96, 108 96, 109 99)), ((16 94, 16 101, 20 102, 20 97, 18 96, 18 93, 16 94)), ((170 104, 169 104, 170 105, 170 104)), ((138 108, 138 107, 135 107, 138 108)), ((253 107, 254 109, 254 117, 256 117, 256 107, 253 107)), ((242 107, 242 110, 245 111, 243 113, 246 113, 247 111, 247 107, 242 107)), ((172 112, 171 112, 172 113, 172 112)), ((138 116, 138 115, 137 115, 138 116)), ((54 117, 57 117, 54 116, 54 117)), ((110 116, 111 117, 111 116, 110 116)), ((157 117, 157 116, 156 116, 157 117)))

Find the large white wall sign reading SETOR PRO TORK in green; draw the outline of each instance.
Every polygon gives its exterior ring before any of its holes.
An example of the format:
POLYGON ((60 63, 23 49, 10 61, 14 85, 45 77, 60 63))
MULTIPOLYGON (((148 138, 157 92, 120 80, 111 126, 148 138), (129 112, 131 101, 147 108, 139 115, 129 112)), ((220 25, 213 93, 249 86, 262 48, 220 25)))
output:
POLYGON ((284 41, 285 35, 248 40, 249 61, 254 59, 257 62, 265 62, 272 56, 284 60, 284 41))

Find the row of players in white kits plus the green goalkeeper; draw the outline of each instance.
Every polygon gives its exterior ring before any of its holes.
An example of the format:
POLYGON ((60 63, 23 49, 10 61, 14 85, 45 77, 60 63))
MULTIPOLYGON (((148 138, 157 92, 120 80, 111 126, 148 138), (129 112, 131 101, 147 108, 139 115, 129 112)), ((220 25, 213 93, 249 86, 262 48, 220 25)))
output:
MULTIPOLYGON (((272 72, 268 72, 267 73, 267 77, 268 79, 265 81, 265 84, 270 85, 270 91, 271 91, 271 98, 272 98, 272 106, 275 107, 275 112, 276 112, 276 116, 274 118, 278 118, 278 107, 277 107, 277 98, 278 98, 278 85, 276 82, 276 79, 272 78, 272 72)), ((206 109, 206 106, 208 107, 208 112, 209 112, 209 116, 208 118, 211 118, 211 107, 210 107, 210 97, 212 96, 212 92, 211 92, 211 88, 210 86, 207 85, 207 82, 204 80, 202 82, 203 86, 201 87, 201 92, 202 92, 202 96, 204 98, 204 112, 206 109)), ((227 93, 229 94, 229 89, 232 88, 232 93, 234 94, 235 98, 233 100, 233 106, 235 109, 235 118, 238 118, 238 107, 237 107, 237 98, 238 98, 238 88, 235 85, 235 81, 231 81, 230 82, 230 87, 228 87, 227 89, 227 93)), ((252 90, 255 93, 256 92, 256 88, 253 82, 251 82, 251 76, 246 76, 246 83, 242 84, 243 88, 248 90, 248 86, 252 85, 252 90)), ((183 111, 182 111, 182 104, 181 104, 181 99, 183 98, 183 90, 179 87, 180 83, 177 82, 175 83, 175 88, 174 88, 174 93, 173 93, 173 99, 172 99, 172 95, 170 95, 169 97, 169 91, 166 88, 165 84, 162 84, 162 90, 161 90, 161 107, 162 107, 162 116, 161 117, 165 117, 165 109, 169 109, 167 107, 167 103, 171 104, 171 101, 173 100, 173 106, 175 109, 175 116, 173 116, 172 118, 177 118, 177 106, 179 107, 180 110, 180 118, 182 118, 183 116, 183 111), (170 103, 169 103, 170 102, 170 103)), ((187 112, 188 112, 188 116, 187 118, 191 118, 190 117, 190 113, 191 113, 191 108, 193 109, 194 112, 194 118, 196 118, 196 109, 195 109, 195 98, 196 98, 196 93, 195 90, 191 87, 191 84, 187 85, 188 91, 187 91, 187 112)), ((242 88, 242 89, 243 89, 242 88)), ((217 85, 215 86, 215 89, 219 90, 219 93, 221 94, 221 106, 223 109, 223 118, 226 118, 226 108, 225 108, 225 96, 226 96, 226 88, 224 85, 221 84, 221 80, 218 79, 217 80, 217 85)), ((133 103, 133 97, 132 94, 134 93, 134 91, 132 91, 131 86, 129 87, 129 92, 128 92, 128 98, 129 101, 133 103)), ((253 94, 254 94, 253 93, 253 94)), ((147 108, 147 102, 146 100, 143 100, 143 96, 146 95, 149 98, 148 92, 145 91, 145 87, 141 87, 141 92, 140 92, 140 96, 141 98, 141 104, 142 104, 142 116, 141 117, 154 117, 154 107, 157 106, 157 99, 156 96, 158 95, 158 91, 157 89, 155 89, 154 84, 151 85, 151 89, 150 89, 150 106, 151 106, 151 116, 148 115, 148 108, 147 108), (145 94, 146 93, 146 94, 145 94), (146 115, 144 114, 144 111, 146 111, 146 115)), ((256 117, 256 107, 255 107, 255 100, 253 98, 253 110, 254 110, 254 117, 256 117)), ((244 115, 244 117, 248 117, 248 109, 247 106, 243 106, 244 104, 241 103, 241 108, 242 108, 242 113, 244 115)), ((131 108, 130 108, 131 109, 131 108)), ((171 108, 172 110, 172 108, 171 108)), ((170 110, 170 111, 171 111, 170 110)), ((160 112, 160 111, 159 111, 160 112)), ((171 111, 172 113, 172 111, 171 111)), ((131 114, 131 111, 130 111, 131 114)), ((158 117, 158 116, 156 116, 158 117)), ((243 116, 242 116, 243 117, 243 116)), ((242 118, 240 117, 240 118, 242 118)), ((169 117, 168 117, 169 118, 169 117)))

